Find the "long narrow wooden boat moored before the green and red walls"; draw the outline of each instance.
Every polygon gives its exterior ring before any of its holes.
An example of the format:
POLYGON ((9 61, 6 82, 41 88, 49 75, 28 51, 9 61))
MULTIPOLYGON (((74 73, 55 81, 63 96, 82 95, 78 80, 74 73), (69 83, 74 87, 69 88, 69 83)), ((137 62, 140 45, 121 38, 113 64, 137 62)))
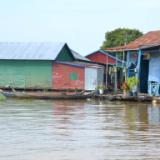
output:
POLYGON ((7 98, 18 99, 87 99, 91 98, 92 94, 62 94, 55 92, 6 92, 1 93, 7 98))

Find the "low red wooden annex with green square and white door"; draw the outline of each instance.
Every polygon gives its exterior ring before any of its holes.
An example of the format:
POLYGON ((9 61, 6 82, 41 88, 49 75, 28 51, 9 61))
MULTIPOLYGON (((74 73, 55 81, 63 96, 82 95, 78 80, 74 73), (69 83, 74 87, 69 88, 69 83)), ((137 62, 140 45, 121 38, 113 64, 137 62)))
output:
POLYGON ((54 62, 53 89, 95 90, 104 82, 102 65, 83 62, 54 62))

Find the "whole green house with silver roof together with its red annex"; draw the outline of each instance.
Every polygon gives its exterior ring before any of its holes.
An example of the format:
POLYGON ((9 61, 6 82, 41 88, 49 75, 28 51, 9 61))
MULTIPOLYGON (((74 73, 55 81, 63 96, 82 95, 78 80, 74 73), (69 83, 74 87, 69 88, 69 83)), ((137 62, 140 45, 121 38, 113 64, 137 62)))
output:
POLYGON ((66 43, 0 43, 0 88, 94 90, 99 70, 66 43))

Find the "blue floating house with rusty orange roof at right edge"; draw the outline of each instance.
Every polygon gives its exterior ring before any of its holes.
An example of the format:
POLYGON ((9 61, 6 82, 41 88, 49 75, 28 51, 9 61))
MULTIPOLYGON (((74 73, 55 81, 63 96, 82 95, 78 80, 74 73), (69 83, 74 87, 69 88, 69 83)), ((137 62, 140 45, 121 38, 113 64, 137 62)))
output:
POLYGON ((141 93, 160 94, 160 31, 148 32, 125 46, 107 51, 125 53, 127 77, 139 79, 141 93))

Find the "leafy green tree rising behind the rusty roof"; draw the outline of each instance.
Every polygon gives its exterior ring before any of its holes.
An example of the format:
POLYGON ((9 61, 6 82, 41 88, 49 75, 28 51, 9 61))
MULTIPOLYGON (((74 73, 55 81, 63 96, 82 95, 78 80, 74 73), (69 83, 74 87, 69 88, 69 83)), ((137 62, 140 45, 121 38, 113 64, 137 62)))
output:
POLYGON ((142 35, 143 33, 137 29, 117 28, 113 31, 105 33, 105 41, 103 42, 101 48, 104 49, 122 46, 134 41, 142 35))

